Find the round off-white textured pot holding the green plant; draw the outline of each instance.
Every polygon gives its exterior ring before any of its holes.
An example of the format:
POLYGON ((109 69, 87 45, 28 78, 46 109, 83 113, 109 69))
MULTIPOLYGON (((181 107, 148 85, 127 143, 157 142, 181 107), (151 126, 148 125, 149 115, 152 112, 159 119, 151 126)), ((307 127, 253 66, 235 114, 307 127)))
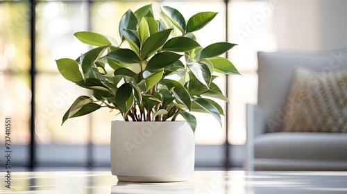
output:
POLYGON ((194 133, 185 121, 112 121, 110 146, 120 181, 179 182, 194 172, 194 133))

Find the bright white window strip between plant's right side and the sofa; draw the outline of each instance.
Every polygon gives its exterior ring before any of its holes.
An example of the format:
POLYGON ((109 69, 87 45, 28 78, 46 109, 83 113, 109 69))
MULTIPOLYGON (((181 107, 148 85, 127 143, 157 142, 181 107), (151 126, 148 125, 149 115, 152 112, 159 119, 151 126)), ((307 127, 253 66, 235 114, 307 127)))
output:
POLYGON ((275 51, 273 35, 273 2, 232 1, 228 4, 229 40, 238 44, 230 60, 242 76, 230 76, 230 121, 228 141, 246 141, 246 103, 257 103, 257 51, 275 51))

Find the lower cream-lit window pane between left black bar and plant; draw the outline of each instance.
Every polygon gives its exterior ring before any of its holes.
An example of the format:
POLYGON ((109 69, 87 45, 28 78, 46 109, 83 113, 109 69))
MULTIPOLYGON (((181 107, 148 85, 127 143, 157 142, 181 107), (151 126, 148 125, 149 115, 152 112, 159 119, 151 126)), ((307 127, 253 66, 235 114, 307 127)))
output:
POLYGON ((88 116, 68 119, 62 124, 62 116, 78 96, 87 95, 74 83, 60 75, 36 76, 35 132, 37 143, 87 144, 90 131, 88 116))

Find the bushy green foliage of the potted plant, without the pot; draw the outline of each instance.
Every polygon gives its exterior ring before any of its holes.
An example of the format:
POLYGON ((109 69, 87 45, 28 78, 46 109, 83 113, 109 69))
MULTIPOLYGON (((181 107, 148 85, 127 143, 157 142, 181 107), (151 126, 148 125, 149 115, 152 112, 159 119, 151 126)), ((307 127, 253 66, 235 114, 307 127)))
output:
POLYGON ((175 8, 156 6, 125 12, 119 45, 94 32, 74 34, 92 49, 56 64, 64 78, 90 89, 93 98, 79 96, 62 123, 101 107, 116 109, 124 121, 175 121, 181 115, 195 130, 191 112, 205 112, 221 123, 223 109, 215 99, 228 98, 214 83, 214 72, 239 74, 230 60, 219 56, 235 44, 217 42, 203 48, 196 41, 194 32, 217 12, 198 12, 186 21, 175 8))

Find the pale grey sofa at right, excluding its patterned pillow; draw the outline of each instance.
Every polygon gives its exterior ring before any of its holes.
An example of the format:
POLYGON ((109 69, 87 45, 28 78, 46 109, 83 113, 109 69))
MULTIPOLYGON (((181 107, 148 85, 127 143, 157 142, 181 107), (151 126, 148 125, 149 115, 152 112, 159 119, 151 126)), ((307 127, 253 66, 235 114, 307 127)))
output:
POLYGON ((347 69, 347 49, 257 56, 258 101, 246 105, 245 170, 347 170, 347 133, 280 132, 295 67, 347 69))

